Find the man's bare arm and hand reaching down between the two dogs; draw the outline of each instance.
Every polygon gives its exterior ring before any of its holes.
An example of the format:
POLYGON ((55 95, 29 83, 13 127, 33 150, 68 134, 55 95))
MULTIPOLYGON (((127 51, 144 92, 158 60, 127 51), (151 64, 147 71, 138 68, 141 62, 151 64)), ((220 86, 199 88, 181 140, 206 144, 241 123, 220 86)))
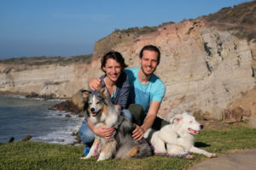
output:
POLYGON ((152 127, 154 123, 154 119, 157 115, 157 112, 160 108, 160 102, 158 101, 152 101, 148 114, 144 119, 143 125, 141 127, 136 125, 136 129, 132 132, 132 138, 136 140, 143 139, 144 133, 148 130, 149 127, 152 127))

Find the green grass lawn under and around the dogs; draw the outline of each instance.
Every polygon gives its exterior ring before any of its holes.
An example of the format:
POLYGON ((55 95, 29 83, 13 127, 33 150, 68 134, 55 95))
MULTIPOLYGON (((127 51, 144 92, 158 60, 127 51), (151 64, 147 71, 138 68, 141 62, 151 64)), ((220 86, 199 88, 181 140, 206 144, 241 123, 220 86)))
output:
MULTIPOLYGON (((230 126, 224 130, 202 131, 195 136, 195 144, 218 156, 237 150, 256 148, 256 129, 230 126)), ((0 145, 0 169, 187 169, 206 156, 193 154, 185 158, 150 156, 137 160, 80 160, 83 146, 47 144, 42 142, 15 142, 0 145)))

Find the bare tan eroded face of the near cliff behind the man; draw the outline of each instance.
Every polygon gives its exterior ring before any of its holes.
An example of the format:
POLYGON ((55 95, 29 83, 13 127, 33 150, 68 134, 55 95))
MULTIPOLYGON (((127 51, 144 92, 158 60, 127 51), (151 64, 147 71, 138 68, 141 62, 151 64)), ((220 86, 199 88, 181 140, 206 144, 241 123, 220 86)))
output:
POLYGON ((147 44, 160 48, 156 75, 166 84, 160 116, 169 120, 181 111, 207 112, 221 120, 222 111, 253 88, 252 48, 231 32, 207 28, 203 20, 188 20, 119 43, 112 49, 138 67, 138 54, 147 44))

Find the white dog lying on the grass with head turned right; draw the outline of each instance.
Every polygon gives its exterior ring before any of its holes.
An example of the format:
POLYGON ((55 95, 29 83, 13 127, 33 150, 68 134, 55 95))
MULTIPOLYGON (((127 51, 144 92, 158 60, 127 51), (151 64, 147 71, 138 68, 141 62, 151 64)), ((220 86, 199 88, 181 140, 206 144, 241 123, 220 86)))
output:
MULTIPOLYGON (((194 146, 193 134, 199 134, 203 127, 195 121, 195 117, 188 113, 177 114, 172 117, 171 124, 162 127, 159 131, 148 129, 144 134, 154 146, 154 153, 185 155, 188 152, 203 154, 207 157, 216 157, 216 154, 201 150, 194 146)), ((186 156, 193 158, 193 156, 186 156)))

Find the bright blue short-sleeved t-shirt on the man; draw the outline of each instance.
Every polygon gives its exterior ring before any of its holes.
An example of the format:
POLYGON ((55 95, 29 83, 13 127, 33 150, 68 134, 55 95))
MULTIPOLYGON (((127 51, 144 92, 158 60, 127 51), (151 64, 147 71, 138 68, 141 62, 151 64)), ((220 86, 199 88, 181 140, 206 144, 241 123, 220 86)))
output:
POLYGON ((161 102, 166 94, 166 86, 159 77, 154 74, 150 78, 148 84, 142 84, 138 79, 139 68, 126 69, 125 73, 129 77, 130 82, 130 104, 142 105, 145 113, 148 113, 151 102, 161 102))

